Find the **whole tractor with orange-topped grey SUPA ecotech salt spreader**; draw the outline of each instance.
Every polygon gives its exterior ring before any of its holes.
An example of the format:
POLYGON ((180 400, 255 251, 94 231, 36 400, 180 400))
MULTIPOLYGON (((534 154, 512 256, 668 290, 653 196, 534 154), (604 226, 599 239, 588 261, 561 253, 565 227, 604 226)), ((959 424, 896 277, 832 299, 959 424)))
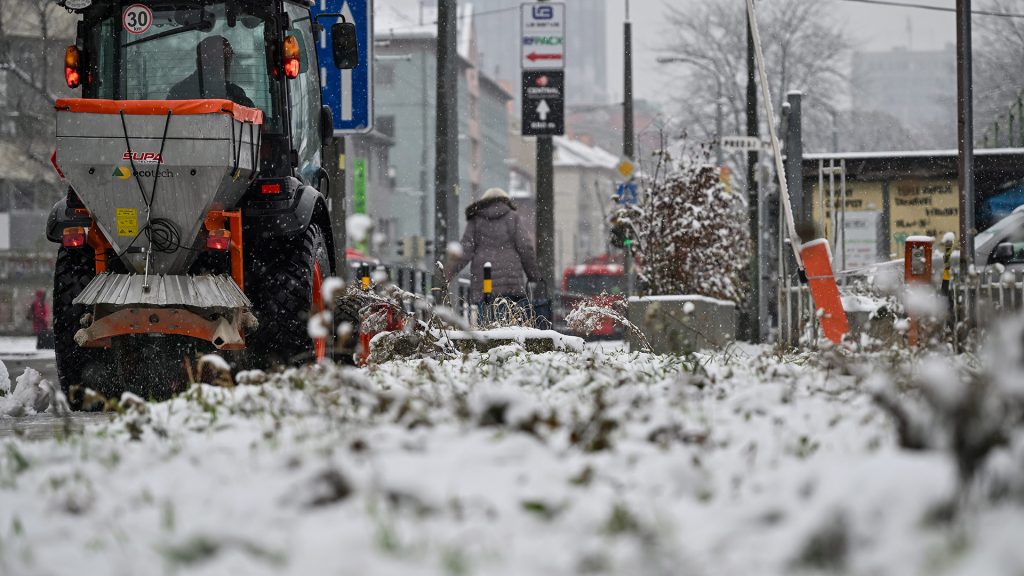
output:
POLYGON ((56 101, 70 188, 47 222, 61 386, 112 367, 93 380, 159 396, 201 353, 332 356, 306 330, 336 270, 321 74, 355 66, 354 26, 293 0, 59 4, 82 16, 65 57, 81 95, 56 101))

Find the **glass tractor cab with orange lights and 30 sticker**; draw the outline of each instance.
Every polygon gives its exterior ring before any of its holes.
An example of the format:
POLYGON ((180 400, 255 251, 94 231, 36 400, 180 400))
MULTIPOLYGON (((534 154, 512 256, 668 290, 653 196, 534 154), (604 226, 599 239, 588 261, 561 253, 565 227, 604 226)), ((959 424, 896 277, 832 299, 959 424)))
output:
MULTIPOLYGON (((333 132, 321 104, 315 41, 327 33, 308 2, 74 0, 87 4, 65 77, 82 97, 227 99, 263 115, 260 172, 319 186, 333 132)), ((338 68, 356 58, 351 23, 330 27, 338 68)))

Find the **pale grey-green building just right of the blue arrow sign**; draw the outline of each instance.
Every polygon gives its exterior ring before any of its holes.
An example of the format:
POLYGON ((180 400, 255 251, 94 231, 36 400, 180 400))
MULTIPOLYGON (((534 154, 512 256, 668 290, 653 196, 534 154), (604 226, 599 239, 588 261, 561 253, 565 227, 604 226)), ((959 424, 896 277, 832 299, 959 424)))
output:
MULTIPOLYGON (((512 94, 477 68, 473 10, 468 3, 459 5, 460 231, 465 227, 466 207, 490 187, 508 189, 510 173, 508 107, 512 94)), ((380 227, 378 232, 388 237, 388 245, 374 255, 390 259, 398 258, 396 248, 402 239, 434 236, 436 8, 424 6, 409 13, 381 3, 375 18, 375 124, 376 131, 393 142, 387 180, 393 193, 380 194, 368 187, 368 208, 380 227), (379 200, 370 198, 374 194, 379 200)), ((373 137, 350 137, 350 150, 373 137)), ((351 175, 348 178, 351 181, 351 175)))

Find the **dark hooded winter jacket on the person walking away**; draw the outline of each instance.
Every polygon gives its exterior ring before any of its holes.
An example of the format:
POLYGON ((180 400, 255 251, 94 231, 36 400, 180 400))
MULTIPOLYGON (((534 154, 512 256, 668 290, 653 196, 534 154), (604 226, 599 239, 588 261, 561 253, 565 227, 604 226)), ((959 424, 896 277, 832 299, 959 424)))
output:
POLYGON ((470 266, 470 298, 483 299, 483 264, 490 262, 495 297, 525 297, 526 283, 540 280, 534 239, 508 196, 494 196, 466 208, 462 256, 450 274, 470 266))

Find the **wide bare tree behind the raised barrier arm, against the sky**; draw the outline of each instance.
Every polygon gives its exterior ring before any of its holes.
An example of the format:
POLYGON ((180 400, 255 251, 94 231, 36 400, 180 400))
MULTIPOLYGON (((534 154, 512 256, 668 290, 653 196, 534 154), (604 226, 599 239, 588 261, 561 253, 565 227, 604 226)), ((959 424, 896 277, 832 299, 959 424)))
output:
MULTIPOLYGON (((666 8, 667 30, 675 40, 662 51, 681 63, 681 90, 674 101, 690 135, 714 137, 719 93, 724 131, 745 134, 745 2, 705 0, 685 8, 666 3, 666 8)), ((772 104, 778 111, 786 92, 804 92, 804 137, 810 150, 826 149, 837 100, 849 94, 845 69, 852 43, 833 13, 831 3, 823 0, 758 2, 772 104)), ((763 121, 764 114, 760 116, 763 121)))

